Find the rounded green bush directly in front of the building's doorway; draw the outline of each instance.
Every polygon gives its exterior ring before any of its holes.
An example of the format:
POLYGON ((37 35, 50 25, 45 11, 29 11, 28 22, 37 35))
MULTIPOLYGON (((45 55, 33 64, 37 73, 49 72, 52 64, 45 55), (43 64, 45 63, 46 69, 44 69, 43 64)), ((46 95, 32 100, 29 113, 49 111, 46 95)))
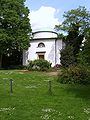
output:
POLYGON ((29 61, 28 63, 29 63, 27 66, 28 70, 46 71, 51 67, 51 63, 49 63, 47 60, 43 60, 43 59, 29 61))

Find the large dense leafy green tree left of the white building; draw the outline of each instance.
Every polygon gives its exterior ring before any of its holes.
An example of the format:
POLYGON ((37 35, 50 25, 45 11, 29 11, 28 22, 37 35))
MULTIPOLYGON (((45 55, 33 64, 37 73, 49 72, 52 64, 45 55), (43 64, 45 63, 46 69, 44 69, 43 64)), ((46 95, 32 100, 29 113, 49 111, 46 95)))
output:
MULTIPOLYGON (((31 26, 25 0, 0 0, 0 56, 27 49, 31 26)), ((1 65, 0 57, 0 65, 1 65)))

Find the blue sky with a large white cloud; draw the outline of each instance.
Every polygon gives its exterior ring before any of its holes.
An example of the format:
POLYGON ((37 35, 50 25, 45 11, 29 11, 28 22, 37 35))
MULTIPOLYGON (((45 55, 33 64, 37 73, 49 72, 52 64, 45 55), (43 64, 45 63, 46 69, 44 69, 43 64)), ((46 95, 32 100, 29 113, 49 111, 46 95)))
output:
POLYGON ((64 12, 85 6, 90 11, 90 0, 26 0, 30 10, 32 31, 54 29, 64 18, 64 12))

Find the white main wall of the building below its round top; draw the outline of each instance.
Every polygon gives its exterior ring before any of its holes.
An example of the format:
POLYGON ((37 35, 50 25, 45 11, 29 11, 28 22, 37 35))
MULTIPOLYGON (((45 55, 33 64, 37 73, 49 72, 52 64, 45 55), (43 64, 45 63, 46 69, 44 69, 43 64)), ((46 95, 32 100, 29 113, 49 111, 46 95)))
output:
POLYGON ((29 47, 28 51, 24 51, 23 65, 28 64, 28 60, 37 59, 38 55, 36 52, 45 52, 45 60, 51 62, 52 67, 55 66, 55 64, 60 64, 60 49, 62 49, 61 40, 56 40, 56 47, 55 39, 33 40, 30 44, 31 46, 29 47), (38 48, 38 44, 40 42, 43 42, 45 47, 38 48))

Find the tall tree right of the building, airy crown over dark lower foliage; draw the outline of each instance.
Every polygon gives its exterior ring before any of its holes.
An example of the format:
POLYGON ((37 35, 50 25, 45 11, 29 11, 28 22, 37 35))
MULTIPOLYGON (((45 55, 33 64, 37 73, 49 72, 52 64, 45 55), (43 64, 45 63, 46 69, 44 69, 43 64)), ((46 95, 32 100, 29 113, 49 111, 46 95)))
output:
MULTIPOLYGON (((67 49, 68 45, 73 48, 73 56, 75 57, 75 61, 77 62, 77 55, 80 51, 80 46, 82 44, 83 38, 87 35, 88 28, 90 27, 90 12, 87 11, 85 7, 80 6, 77 9, 65 12, 64 18, 65 20, 62 22, 62 24, 56 25, 55 28, 57 30, 63 30, 67 32, 67 37, 65 39, 65 49, 67 49)), ((68 50, 70 51, 70 49, 68 50)), ((65 52, 65 50, 62 50, 62 55, 63 52, 65 52)), ((64 57, 62 55, 61 62, 64 57)))

